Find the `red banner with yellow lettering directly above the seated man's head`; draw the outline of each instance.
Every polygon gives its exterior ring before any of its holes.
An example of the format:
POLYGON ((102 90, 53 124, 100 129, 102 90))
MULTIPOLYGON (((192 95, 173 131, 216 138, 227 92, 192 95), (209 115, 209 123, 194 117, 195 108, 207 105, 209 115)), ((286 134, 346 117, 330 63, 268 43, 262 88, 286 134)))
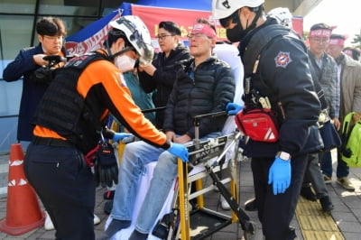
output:
MULTIPOLYGON (((151 32, 152 38, 158 35, 158 24, 162 21, 172 21, 180 26, 181 39, 188 40, 187 34, 192 30, 196 19, 206 18, 210 23, 212 20, 212 13, 208 11, 186 10, 167 7, 154 7, 143 5, 132 5, 132 15, 139 16, 151 32)), ((217 26, 218 40, 226 40, 226 30, 217 26)))

